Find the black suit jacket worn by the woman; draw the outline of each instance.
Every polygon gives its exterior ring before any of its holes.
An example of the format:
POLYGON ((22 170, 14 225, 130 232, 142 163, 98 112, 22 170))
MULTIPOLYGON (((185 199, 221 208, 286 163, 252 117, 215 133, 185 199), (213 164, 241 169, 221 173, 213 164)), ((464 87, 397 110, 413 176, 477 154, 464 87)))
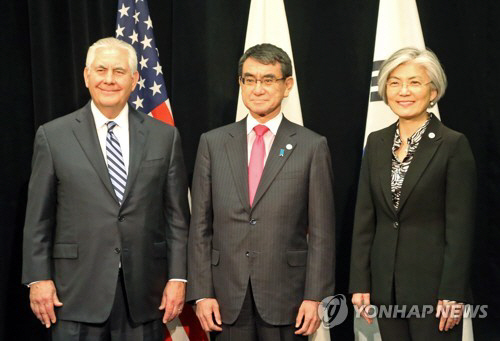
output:
POLYGON ((464 135, 433 117, 405 176, 399 209, 391 197, 396 124, 370 134, 361 166, 350 291, 372 303, 467 302, 474 227, 475 163, 464 135))

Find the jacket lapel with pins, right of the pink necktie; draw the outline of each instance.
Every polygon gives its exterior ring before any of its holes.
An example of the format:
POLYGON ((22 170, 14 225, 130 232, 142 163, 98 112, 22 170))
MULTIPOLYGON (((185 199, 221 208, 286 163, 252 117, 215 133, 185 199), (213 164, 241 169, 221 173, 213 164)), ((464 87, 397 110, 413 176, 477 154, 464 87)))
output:
MULTIPOLYGON (((259 200, 267 191, 280 169, 295 150, 295 146, 297 145, 297 142, 293 138, 295 133, 295 127, 290 121, 283 117, 271 146, 271 150, 269 151, 266 165, 264 166, 264 171, 262 172, 262 177, 257 187, 257 192, 255 193, 252 208, 257 206, 259 200), (291 149, 289 149, 290 146, 292 147, 291 149), (280 149, 283 149, 283 156, 280 156, 280 149)), ((248 184, 246 187, 248 187, 248 184)))

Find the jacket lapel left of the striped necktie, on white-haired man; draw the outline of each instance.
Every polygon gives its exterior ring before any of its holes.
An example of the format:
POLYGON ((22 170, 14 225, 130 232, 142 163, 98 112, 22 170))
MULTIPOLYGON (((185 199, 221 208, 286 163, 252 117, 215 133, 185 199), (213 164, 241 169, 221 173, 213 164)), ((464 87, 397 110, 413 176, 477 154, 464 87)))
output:
POLYGON ((108 167, 106 166, 106 161, 104 160, 104 155, 102 154, 99 144, 99 138, 97 137, 94 117, 90 110, 90 102, 76 114, 76 119, 73 124, 73 133, 90 164, 94 167, 97 175, 104 184, 104 187, 106 187, 111 196, 118 202, 118 198, 116 198, 113 187, 111 186, 108 167))

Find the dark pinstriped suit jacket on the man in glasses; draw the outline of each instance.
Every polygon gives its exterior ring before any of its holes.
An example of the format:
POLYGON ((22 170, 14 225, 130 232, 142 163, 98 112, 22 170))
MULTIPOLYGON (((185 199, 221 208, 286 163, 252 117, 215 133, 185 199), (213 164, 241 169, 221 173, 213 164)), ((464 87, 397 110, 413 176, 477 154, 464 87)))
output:
POLYGON ((302 300, 334 290, 330 152, 324 137, 284 118, 250 207, 247 149, 246 120, 201 136, 187 299, 215 297, 230 324, 250 280, 264 321, 290 324, 302 300))

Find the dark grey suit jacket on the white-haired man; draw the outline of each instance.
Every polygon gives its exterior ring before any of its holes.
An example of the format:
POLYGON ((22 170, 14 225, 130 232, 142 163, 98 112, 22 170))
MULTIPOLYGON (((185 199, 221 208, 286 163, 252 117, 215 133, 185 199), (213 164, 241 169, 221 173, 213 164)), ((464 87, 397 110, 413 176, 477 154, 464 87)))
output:
POLYGON ((169 278, 186 278, 187 180, 177 130, 129 107, 130 166, 115 196, 90 103, 38 129, 24 228, 23 283, 54 280, 58 317, 109 316, 123 269, 135 322, 161 316, 169 278))

